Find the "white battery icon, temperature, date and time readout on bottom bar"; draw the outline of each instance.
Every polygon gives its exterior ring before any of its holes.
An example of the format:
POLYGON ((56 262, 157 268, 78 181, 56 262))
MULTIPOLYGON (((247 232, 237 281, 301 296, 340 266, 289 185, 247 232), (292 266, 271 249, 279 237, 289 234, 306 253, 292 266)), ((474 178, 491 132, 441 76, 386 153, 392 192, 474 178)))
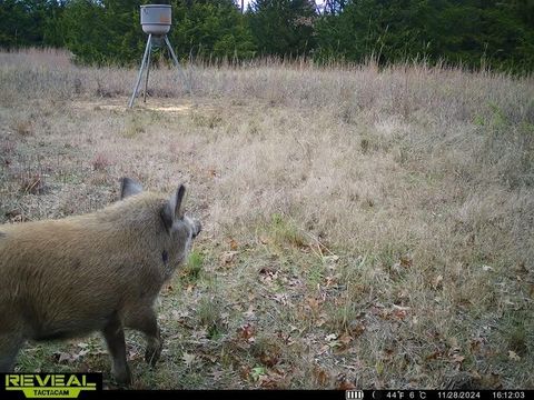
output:
POLYGON ((532 390, 347 390, 346 400, 521 400, 532 390))

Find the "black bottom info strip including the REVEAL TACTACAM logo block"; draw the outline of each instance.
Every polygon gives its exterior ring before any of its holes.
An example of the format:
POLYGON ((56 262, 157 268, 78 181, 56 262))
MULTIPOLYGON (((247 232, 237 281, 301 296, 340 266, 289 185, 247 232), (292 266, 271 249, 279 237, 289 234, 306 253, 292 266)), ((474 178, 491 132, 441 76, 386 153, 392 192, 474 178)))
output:
MULTIPOLYGON (((131 390, 102 384, 101 373, 0 373, 0 399, 335 399, 522 400, 533 390, 131 390)), ((214 388, 215 389, 215 388, 214 388)))

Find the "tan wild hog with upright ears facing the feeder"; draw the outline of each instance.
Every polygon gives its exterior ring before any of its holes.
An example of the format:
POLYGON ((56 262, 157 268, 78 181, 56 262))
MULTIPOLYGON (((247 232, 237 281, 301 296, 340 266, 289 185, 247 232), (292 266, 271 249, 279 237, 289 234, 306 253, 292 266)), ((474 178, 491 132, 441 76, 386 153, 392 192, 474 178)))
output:
POLYGON ((184 216, 185 190, 168 199, 123 178, 120 201, 95 213, 0 226, 0 371, 27 339, 101 331, 115 379, 128 384, 123 328, 146 334, 154 366, 162 347, 155 300, 200 232, 184 216))

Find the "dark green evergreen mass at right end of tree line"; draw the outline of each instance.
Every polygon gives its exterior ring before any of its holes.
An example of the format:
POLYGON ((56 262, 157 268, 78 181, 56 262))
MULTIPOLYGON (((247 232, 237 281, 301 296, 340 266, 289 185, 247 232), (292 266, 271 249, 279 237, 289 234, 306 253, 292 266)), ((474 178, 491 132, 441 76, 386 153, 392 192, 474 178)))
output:
POLYGON ((316 24, 316 59, 422 60, 508 71, 534 69, 532 0, 353 0, 316 24))

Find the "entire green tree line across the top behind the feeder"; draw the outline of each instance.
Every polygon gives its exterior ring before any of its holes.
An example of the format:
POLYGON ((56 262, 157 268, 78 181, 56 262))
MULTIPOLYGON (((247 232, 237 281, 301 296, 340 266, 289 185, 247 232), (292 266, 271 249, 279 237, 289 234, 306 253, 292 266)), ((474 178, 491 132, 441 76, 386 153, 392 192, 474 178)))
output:
MULTIPOLYGON (((66 48, 83 64, 135 64, 142 0, 0 0, 0 47, 66 48)), ((181 60, 405 61, 531 73, 534 0, 151 1, 172 6, 181 60), (243 11, 243 12, 241 12, 243 11)))

